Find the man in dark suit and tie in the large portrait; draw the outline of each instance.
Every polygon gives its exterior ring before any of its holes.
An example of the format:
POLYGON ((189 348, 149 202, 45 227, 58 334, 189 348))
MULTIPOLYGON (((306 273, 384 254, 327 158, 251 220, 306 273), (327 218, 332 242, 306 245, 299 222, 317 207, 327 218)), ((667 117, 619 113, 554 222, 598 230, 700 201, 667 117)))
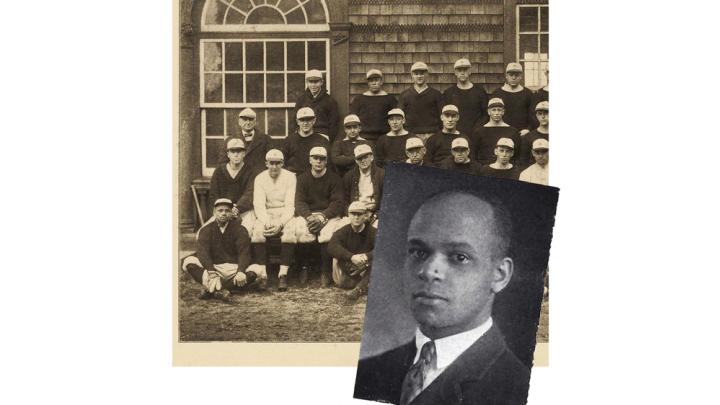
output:
POLYGON ((526 403, 530 370, 493 324, 510 282, 512 225, 496 202, 440 193, 407 232, 404 289, 415 338, 358 364, 355 397, 401 405, 526 403))

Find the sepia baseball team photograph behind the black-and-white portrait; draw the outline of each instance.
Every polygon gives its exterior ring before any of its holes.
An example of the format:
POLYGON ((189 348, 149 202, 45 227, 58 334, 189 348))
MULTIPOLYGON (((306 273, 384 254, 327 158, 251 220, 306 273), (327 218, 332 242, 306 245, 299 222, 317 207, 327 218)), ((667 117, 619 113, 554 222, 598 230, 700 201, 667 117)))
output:
MULTIPOLYGON (((361 356, 377 354, 386 345, 366 343, 376 335, 363 321, 393 239, 385 224, 409 218, 439 178, 408 167, 548 184, 547 1, 175 10, 176 343, 362 338, 361 356), (387 207, 394 198, 408 204, 387 207)), ((538 342, 549 338, 548 291, 532 295, 538 342)))

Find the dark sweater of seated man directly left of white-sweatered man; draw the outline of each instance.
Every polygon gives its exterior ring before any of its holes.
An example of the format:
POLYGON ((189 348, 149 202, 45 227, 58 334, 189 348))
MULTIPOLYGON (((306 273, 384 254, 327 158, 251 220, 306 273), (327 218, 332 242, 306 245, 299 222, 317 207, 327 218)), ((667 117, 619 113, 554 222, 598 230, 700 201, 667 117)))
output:
POLYGON ((240 213, 253 209, 252 193, 257 174, 257 171, 245 164, 233 179, 230 177, 226 164, 217 167, 210 178, 208 211, 212 212, 218 198, 229 198, 237 205, 240 213))

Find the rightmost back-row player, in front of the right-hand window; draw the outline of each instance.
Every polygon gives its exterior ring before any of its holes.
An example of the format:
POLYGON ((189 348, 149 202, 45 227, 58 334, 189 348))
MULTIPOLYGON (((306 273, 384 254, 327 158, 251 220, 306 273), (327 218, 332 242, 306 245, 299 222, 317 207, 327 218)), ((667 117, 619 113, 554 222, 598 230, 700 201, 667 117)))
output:
POLYGON ((532 122, 531 102, 532 90, 523 87, 522 65, 516 62, 508 63, 505 68, 505 84, 495 90, 492 97, 498 97, 505 104, 505 122, 517 128, 520 135, 530 131, 532 122))

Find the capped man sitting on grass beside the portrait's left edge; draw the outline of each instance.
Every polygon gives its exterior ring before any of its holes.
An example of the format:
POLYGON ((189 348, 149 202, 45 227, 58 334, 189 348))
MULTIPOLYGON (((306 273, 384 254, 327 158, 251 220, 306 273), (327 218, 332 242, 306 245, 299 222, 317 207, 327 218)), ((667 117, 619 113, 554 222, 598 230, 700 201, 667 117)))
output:
POLYGON ((351 289, 345 294, 349 303, 367 294, 370 264, 375 247, 374 227, 367 224, 365 204, 354 201, 348 208, 350 223, 335 231, 328 253, 333 258, 333 281, 340 288, 351 289))

